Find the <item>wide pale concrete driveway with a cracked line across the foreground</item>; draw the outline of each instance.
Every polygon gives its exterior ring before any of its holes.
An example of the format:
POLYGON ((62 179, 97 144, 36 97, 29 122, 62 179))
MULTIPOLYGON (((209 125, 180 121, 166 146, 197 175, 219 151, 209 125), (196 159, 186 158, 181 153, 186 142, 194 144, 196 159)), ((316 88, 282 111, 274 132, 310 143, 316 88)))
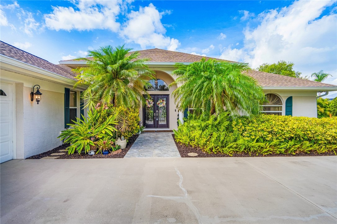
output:
POLYGON ((1 223, 336 223, 337 156, 12 160, 1 223))

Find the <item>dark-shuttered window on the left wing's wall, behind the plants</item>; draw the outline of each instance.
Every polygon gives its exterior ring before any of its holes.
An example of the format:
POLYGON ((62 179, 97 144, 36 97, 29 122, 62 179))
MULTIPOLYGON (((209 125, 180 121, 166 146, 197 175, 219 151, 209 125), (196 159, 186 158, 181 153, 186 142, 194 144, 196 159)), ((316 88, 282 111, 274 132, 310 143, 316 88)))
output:
MULTIPOLYGON (((82 93, 82 92, 81 92, 82 93)), ((64 128, 69 128, 67 124, 74 124, 78 116, 78 109, 80 109, 80 116, 84 114, 84 102, 78 100, 78 91, 64 88, 64 128)))

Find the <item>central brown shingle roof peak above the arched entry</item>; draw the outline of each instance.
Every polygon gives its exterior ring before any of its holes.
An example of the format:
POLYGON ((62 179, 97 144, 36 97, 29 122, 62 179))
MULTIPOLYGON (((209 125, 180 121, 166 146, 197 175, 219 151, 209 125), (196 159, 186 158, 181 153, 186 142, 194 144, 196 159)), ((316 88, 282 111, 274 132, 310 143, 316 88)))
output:
MULTIPOLYGON (((223 60, 219 58, 205 57, 205 56, 187 54, 187 53, 182 53, 182 52, 177 52, 177 51, 163 50, 159 48, 140 50, 138 52, 140 53, 140 56, 138 57, 139 59, 150 58, 151 62, 195 62, 195 61, 200 61, 202 58, 216 59, 220 61, 228 61, 228 60, 223 60)), ((90 57, 88 58, 90 59, 90 57)), ((83 60, 64 60, 64 61, 83 61, 83 60)), ((235 62, 235 61, 228 61, 228 62, 235 62)))

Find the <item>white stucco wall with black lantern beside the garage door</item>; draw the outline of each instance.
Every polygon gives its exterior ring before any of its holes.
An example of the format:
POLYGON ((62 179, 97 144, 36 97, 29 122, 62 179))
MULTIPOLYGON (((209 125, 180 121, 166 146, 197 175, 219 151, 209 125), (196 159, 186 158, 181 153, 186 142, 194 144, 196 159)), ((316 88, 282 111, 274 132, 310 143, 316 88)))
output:
MULTIPOLYGON (((57 137, 64 130, 64 88, 69 86, 5 70, 1 70, 0 81, 12 82, 15 87, 14 159, 25 159, 59 146, 57 137), (42 96, 39 104, 30 100, 34 85, 40 85, 42 96)), ((76 91, 79 117, 80 91, 76 91)))

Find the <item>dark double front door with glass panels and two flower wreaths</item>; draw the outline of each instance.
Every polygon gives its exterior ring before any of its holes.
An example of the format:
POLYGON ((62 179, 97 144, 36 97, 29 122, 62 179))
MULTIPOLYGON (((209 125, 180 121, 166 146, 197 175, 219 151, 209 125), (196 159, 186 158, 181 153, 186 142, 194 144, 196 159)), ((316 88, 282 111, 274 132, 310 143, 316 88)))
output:
POLYGON ((168 96, 150 95, 143 108, 145 128, 168 128, 168 96))

